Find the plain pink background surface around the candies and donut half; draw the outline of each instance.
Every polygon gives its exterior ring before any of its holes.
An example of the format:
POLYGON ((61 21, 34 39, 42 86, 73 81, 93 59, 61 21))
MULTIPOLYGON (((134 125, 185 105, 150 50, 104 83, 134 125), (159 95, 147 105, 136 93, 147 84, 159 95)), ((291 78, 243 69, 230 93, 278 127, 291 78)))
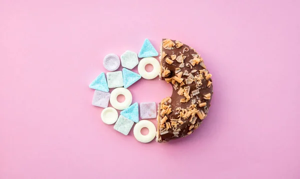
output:
MULTIPOLYGON (((300 178, 299 6, 0 0, 0 178, 300 178), (107 53, 163 37, 203 56, 212 106, 185 139, 143 144, 101 121, 88 84, 107 53)), ((133 102, 171 94, 157 78, 129 89, 133 102)))

